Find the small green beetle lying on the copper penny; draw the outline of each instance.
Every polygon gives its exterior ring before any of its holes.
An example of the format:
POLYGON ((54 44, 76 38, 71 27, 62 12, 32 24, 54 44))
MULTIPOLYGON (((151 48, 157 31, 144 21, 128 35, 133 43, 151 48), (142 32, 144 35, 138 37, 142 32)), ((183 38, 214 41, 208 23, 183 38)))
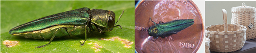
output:
MULTIPOLYGON (((149 19, 152 21, 151 17, 149 19)), ((171 34, 177 34, 181 30, 193 25, 194 19, 179 19, 167 23, 160 21, 159 24, 156 24, 154 21, 152 22, 154 25, 148 28, 148 35, 158 39, 158 37, 164 38, 171 34)))

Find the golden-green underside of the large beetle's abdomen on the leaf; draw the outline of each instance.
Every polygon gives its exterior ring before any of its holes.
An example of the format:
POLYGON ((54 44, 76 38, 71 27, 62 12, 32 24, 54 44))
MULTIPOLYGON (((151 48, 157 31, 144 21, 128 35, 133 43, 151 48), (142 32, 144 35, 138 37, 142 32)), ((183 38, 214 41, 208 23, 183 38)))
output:
POLYGON ((34 39, 51 39, 55 34, 55 37, 69 36, 69 33, 65 28, 74 27, 74 25, 57 25, 50 28, 45 28, 43 30, 37 30, 32 32, 24 32, 19 34, 12 34, 17 36, 24 36, 26 38, 34 39))

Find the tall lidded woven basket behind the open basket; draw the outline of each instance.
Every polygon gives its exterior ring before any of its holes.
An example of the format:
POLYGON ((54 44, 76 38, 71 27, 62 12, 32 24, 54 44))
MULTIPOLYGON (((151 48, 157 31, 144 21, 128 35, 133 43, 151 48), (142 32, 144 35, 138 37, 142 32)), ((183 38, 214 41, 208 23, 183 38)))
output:
POLYGON ((245 25, 247 29, 246 40, 256 38, 256 9, 255 7, 246 6, 245 3, 242 3, 243 6, 232 7, 232 20, 231 24, 245 25), (249 24, 252 24, 249 28, 249 24))

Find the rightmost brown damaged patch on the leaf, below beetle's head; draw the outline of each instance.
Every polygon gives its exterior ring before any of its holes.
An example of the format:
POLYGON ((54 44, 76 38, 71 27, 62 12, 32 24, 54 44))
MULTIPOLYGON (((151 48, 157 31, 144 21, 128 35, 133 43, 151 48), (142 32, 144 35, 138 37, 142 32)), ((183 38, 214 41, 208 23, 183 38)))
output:
POLYGON ((128 40, 126 40, 126 39, 121 39, 121 38, 119 38, 119 37, 112 37, 112 38, 110 38, 110 39, 103 39, 103 38, 101 38, 101 40, 105 40, 105 41, 114 41, 115 39, 117 39, 118 41, 122 41, 122 44, 125 44, 125 46, 124 47, 126 47, 126 48, 131 48, 131 46, 130 45, 132 45, 134 42, 132 42, 132 41, 128 41, 128 40))

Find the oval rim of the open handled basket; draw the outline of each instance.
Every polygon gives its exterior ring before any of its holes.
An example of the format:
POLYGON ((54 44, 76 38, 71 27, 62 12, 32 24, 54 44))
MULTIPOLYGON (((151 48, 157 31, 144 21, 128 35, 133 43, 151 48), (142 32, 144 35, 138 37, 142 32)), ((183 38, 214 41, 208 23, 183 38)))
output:
MULTIPOLYGON (((217 24, 217 25, 224 25, 224 24, 217 24)), ((236 26, 236 25, 239 25, 239 24, 228 24, 228 25, 234 25, 234 26, 236 26)), ((210 25, 210 26, 216 26, 216 25, 210 25)), ((208 28, 210 28, 210 26, 205 26, 205 30, 208 29, 208 28)), ((246 31, 246 30, 247 30, 246 26, 244 26, 244 25, 240 25, 240 26, 243 27, 243 29, 241 29, 241 30, 236 30, 236 31, 227 31, 227 32, 237 32, 237 31, 246 31)), ((206 32, 210 33, 210 32, 220 32, 220 31, 210 31, 210 30, 206 30, 206 32)), ((221 31, 221 32, 224 32, 224 31, 221 31)))

